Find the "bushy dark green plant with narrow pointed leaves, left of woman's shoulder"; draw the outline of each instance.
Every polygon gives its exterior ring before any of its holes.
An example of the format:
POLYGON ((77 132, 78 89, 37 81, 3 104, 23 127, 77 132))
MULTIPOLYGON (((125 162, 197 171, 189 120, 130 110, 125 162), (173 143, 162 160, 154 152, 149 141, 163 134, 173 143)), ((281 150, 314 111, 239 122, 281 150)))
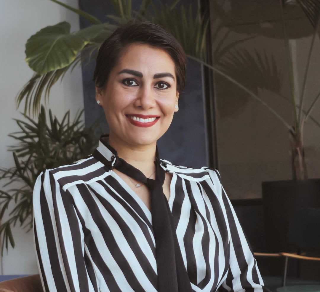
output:
POLYGON ((18 143, 9 148, 14 157, 15 166, 0 169, 0 180, 8 179, 4 187, 13 182, 22 183, 21 188, 0 190, 0 219, 9 213, 8 206, 16 202, 6 222, 0 224, 2 248, 14 246, 11 227, 15 224, 32 228, 32 193, 36 178, 45 169, 71 164, 91 154, 97 144, 96 127, 84 128, 82 121, 84 110, 78 111, 73 121, 68 111, 62 120, 49 110, 47 123, 45 109, 42 106, 36 120, 24 115, 27 120, 16 119, 20 131, 10 136, 18 143))

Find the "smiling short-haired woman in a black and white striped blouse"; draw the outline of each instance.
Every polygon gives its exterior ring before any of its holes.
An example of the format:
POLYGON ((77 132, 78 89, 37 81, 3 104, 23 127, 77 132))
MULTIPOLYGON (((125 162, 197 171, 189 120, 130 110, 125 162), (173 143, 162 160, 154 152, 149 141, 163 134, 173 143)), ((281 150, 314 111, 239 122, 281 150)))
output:
POLYGON ((96 101, 110 128, 88 158, 42 173, 35 242, 45 291, 262 291, 219 174, 160 159, 186 56, 152 23, 100 47, 96 101))

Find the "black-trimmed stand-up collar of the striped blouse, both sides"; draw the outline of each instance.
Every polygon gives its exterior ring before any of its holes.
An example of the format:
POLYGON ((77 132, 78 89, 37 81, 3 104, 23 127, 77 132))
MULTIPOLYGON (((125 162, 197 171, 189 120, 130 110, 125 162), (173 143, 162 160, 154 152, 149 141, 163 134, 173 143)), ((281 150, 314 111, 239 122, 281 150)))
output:
MULTIPOLYGON (((93 152, 92 156, 100 160, 106 166, 109 166, 109 169, 114 168, 116 159, 119 158, 117 151, 108 144, 109 135, 101 135, 99 139, 99 145, 96 150, 93 152)), ((162 162, 159 158, 158 147, 156 146, 156 162, 162 167, 166 168, 167 165, 162 162)))

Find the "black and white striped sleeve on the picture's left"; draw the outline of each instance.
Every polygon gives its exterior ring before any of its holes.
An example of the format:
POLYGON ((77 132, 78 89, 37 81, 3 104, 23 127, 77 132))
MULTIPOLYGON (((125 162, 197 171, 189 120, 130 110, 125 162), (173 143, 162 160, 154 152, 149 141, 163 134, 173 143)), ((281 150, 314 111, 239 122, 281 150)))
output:
POLYGON ((45 292, 97 292, 73 199, 46 170, 33 191, 36 257, 45 292))

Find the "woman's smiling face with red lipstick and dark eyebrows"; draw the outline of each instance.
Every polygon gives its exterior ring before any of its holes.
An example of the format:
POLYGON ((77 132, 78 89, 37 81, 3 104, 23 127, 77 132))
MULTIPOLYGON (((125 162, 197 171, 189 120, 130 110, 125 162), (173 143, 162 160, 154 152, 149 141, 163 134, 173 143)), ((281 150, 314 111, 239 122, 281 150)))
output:
POLYGON ((110 71, 105 88, 96 88, 110 128, 109 141, 155 143, 178 109, 175 64, 164 50, 132 44, 110 71))

